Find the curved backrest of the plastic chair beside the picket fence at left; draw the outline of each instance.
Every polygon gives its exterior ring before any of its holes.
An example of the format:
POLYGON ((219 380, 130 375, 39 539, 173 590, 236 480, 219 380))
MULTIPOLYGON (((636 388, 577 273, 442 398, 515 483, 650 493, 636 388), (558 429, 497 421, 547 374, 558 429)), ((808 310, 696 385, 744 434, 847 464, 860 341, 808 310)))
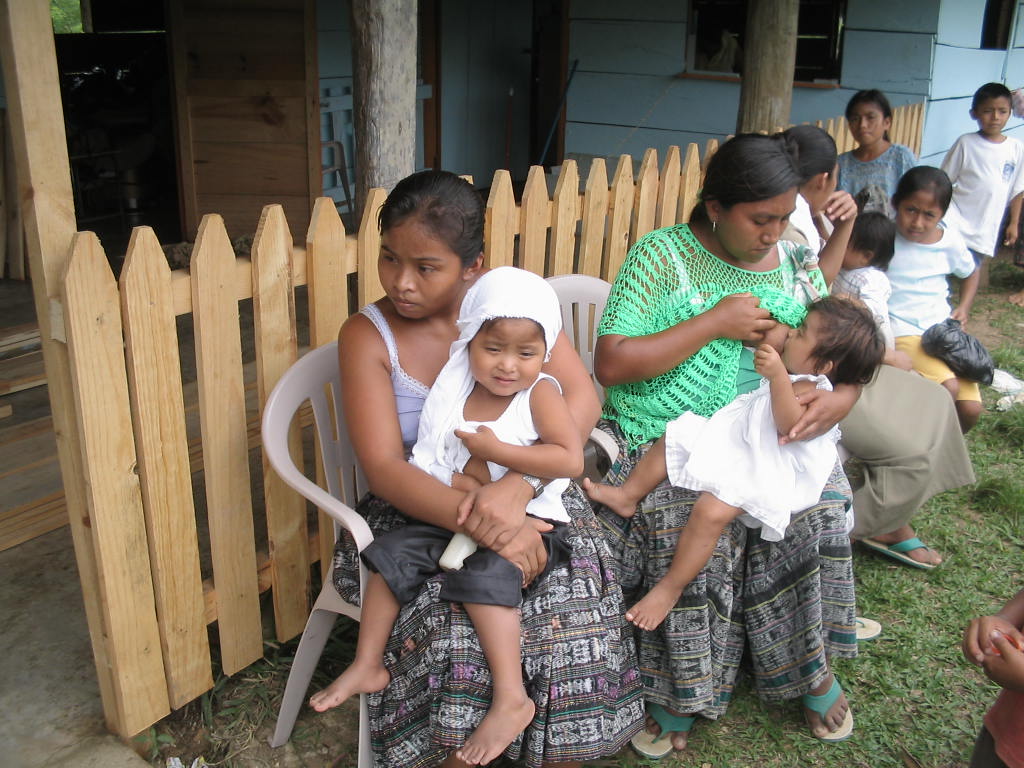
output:
MULTIPOLYGON (((369 484, 359 469, 345 428, 338 342, 333 341, 309 350, 285 372, 263 409, 262 435, 263 451, 270 465, 285 482, 302 496, 322 508, 335 508, 337 501, 349 507, 355 506, 369 484), (288 432, 292 420, 306 401, 313 411, 327 493, 305 476, 288 450, 288 432)), ((366 527, 362 518, 359 517, 355 523, 356 529, 347 523, 346 527, 352 531, 360 550, 372 541, 370 529, 366 527)), ((336 536, 337 532, 336 517, 336 536)))

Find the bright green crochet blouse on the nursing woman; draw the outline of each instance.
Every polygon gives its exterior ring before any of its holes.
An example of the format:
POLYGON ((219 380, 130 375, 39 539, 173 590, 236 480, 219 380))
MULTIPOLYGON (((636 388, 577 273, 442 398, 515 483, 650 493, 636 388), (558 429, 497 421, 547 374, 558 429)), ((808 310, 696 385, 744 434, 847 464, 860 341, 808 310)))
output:
MULTIPOLYGON (((779 266, 741 269, 709 253, 689 225, 655 229, 630 249, 601 317, 598 334, 649 336, 750 292, 781 323, 799 326, 804 307, 828 293, 817 258, 805 246, 779 243, 779 266)), ((715 339, 664 374, 605 389, 604 415, 630 449, 665 433, 667 422, 691 411, 711 416, 736 396, 741 343, 715 339)))

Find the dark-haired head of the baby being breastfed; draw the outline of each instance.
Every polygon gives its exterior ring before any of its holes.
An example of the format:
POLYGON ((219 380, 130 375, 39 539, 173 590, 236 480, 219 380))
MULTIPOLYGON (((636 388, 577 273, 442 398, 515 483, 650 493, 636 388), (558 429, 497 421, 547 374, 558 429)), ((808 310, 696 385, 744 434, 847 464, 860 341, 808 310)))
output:
POLYGON ((782 362, 791 374, 822 374, 834 384, 866 384, 885 355, 885 342, 865 306, 826 296, 807 307, 790 332, 782 362))

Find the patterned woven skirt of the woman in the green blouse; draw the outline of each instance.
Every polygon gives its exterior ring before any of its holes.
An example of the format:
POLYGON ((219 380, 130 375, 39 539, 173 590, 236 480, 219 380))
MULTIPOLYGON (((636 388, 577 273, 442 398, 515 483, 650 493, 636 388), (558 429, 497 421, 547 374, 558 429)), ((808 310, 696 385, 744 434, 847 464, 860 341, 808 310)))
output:
MULTIPOLYGON (((617 427, 606 481, 621 484, 653 443, 634 454, 617 427)), ((663 482, 625 520, 598 506, 628 605, 662 579, 697 495, 663 482)), ((733 520, 707 567, 653 632, 638 631, 644 696, 676 712, 721 717, 744 649, 758 694, 794 698, 824 681, 828 656, 857 654, 853 561, 846 532, 850 486, 837 464, 819 502, 793 516, 781 542, 733 520)))

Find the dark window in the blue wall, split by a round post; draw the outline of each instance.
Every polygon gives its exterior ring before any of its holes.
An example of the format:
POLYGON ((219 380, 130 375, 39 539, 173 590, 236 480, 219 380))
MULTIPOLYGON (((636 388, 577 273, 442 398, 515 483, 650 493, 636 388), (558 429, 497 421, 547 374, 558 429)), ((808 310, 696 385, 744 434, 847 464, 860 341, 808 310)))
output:
MULTIPOLYGON (((746 40, 748 0, 693 0, 688 72, 738 74, 746 40)), ((800 0, 794 80, 838 82, 846 0, 800 0)))

